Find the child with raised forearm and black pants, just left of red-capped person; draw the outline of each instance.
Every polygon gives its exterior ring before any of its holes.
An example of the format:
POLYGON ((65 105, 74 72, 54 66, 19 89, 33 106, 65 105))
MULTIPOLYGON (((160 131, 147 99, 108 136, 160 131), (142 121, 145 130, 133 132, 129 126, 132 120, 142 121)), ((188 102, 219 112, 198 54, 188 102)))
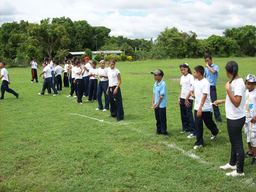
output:
POLYGON ((74 72, 76 74, 75 79, 73 81, 74 84, 77 86, 77 103, 82 104, 82 95, 83 95, 83 82, 82 82, 82 70, 85 66, 80 68, 81 62, 76 62, 76 67, 74 67, 74 72))

